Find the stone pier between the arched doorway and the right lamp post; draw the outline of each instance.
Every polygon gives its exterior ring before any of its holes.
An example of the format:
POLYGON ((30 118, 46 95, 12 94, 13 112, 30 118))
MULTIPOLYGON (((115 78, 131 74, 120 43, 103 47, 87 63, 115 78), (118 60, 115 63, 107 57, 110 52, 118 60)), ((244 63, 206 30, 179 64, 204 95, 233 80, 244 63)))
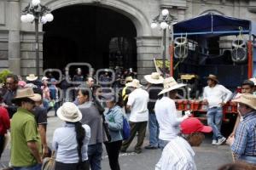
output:
MULTIPOLYGON (((155 72, 154 58, 161 59, 161 37, 137 37, 137 73, 138 79, 155 72)), ((167 58, 167 57, 166 57, 167 58)))

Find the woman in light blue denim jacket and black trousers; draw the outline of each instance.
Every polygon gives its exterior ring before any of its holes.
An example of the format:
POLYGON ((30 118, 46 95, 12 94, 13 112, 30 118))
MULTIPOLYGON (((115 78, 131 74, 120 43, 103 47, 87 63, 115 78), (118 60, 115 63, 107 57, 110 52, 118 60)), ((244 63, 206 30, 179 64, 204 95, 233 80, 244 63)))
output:
POLYGON ((105 113, 105 119, 108 123, 109 134, 111 141, 106 142, 106 150, 108 152, 109 166, 111 170, 119 170, 119 151, 122 146, 123 136, 123 121, 124 114, 119 106, 119 99, 114 95, 105 95, 108 111, 105 113))

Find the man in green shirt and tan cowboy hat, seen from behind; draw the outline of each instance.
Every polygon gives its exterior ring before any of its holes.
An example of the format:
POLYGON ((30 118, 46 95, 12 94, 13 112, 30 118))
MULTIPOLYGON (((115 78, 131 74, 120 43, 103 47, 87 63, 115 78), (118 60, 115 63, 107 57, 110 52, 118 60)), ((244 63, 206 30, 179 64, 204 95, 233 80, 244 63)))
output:
POLYGON ((14 99, 19 108, 11 122, 11 165, 15 170, 40 170, 42 151, 38 125, 32 109, 40 101, 40 94, 34 94, 32 88, 20 88, 14 99))

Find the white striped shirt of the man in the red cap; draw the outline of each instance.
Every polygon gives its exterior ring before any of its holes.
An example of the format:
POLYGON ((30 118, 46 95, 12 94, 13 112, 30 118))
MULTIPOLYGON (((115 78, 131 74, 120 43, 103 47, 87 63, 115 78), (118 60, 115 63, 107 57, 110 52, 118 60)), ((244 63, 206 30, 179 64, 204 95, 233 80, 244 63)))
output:
POLYGON ((155 170, 196 170, 194 156, 189 143, 177 136, 166 144, 155 170))

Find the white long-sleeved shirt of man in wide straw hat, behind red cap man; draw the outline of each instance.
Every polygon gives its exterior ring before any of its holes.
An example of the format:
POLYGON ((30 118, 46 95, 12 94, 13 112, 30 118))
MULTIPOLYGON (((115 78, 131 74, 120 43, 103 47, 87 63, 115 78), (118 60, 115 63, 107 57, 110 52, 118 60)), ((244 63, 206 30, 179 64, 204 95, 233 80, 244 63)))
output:
POLYGON ((167 97, 158 99, 154 105, 154 112, 160 127, 159 139, 170 141, 175 138, 183 118, 177 117, 174 100, 167 97))

